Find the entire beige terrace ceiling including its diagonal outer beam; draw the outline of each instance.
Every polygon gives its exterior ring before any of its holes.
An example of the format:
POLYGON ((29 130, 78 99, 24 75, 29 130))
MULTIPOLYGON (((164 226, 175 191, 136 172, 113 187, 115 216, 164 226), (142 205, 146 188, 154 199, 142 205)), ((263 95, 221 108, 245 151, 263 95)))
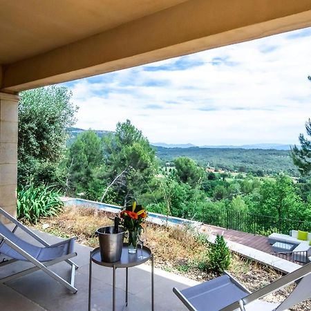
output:
POLYGON ((0 91, 308 26, 310 0, 0 0, 0 91))

